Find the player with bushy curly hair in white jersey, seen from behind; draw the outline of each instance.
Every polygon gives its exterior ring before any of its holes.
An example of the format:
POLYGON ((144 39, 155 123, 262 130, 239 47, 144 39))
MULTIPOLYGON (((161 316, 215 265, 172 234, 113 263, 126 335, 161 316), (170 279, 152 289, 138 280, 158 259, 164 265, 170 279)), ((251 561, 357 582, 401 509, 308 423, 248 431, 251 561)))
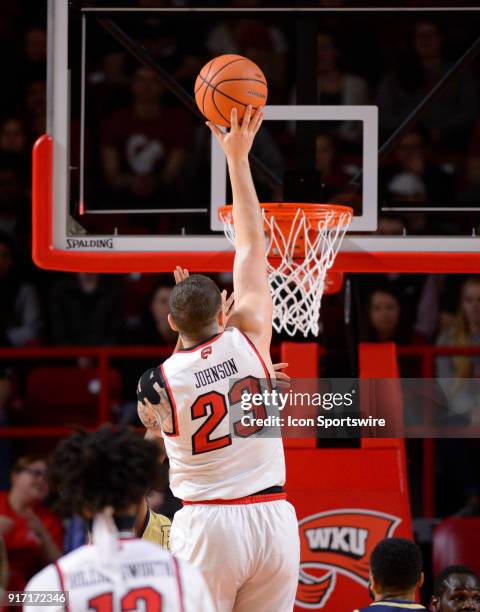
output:
POLYGON ((47 610, 215 612, 196 568, 133 536, 145 491, 158 481, 158 457, 156 444, 109 427, 73 434, 60 444, 55 480, 70 509, 93 519, 92 544, 61 557, 27 584, 28 592, 68 591, 67 605, 58 602, 47 610))

